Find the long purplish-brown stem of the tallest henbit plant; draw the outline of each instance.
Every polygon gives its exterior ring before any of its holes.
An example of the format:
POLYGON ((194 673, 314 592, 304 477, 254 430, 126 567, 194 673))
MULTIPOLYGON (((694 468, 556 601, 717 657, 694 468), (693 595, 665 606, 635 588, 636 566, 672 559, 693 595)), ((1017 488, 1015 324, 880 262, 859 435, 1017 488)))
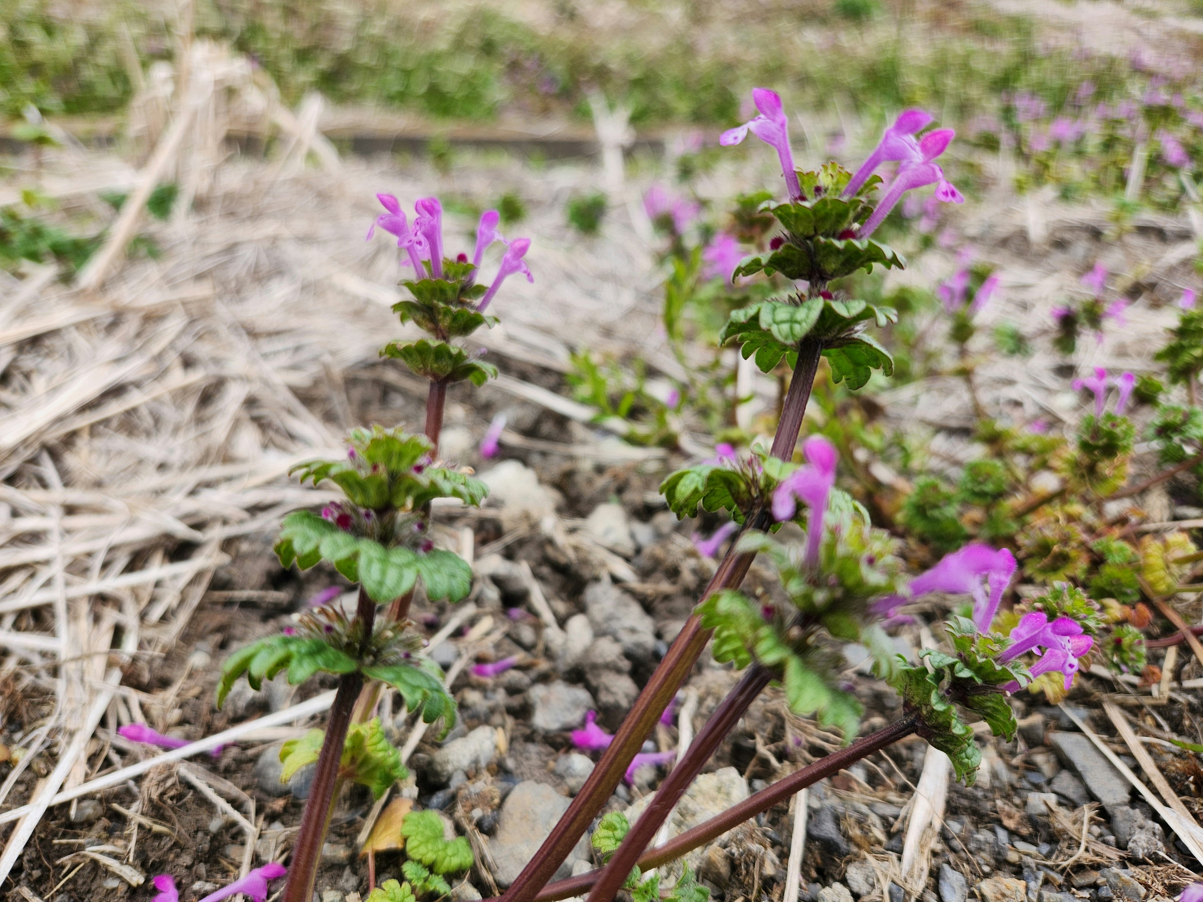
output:
MULTIPOLYGON (((805 340, 799 350, 794 379, 789 385, 781 421, 777 423, 777 434, 772 441, 771 453, 774 457, 788 461, 794 453, 794 445, 798 443, 798 432, 801 429, 802 415, 806 413, 806 403, 811 397, 811 386, 814 382, 822 351, 822 343, 816 340, 805 340)), ((768 511, 759 511, 748 517, 747 522, 749 528, 763 529, 771 521, 768 511)), ((727 556, 710 578, 703 599, 721 589, 737 588, 743 582, 755 554, 736 553, 734 548, 735 542, 731 544, 727 556)), ((697 615, 691 615, 669 647, 668 654, 656 667, 652 678, 647 681, 644 690, 639 694, 634 707, 623 719, 609 748, 602 754, 602 760, 593 769, 593 773, 589 775, 581 791, 577 793, 556 826, 552 827, 551 835, 539 847, 534 858, 527 862, 522 873, 505 891, 503 896, 505 902, 533 902, 539 890, 556 873, 561 862, 568 858, 568 853, 588 830, 594 815, 610 800, 610 794, 618 785, 618 781, 627 771, 627 765, 642 747, 644 740, 652 731, 660 713, 693 671, 693 665, 706 647, 710 635, 710 630, 701 628, 701 619, 697 615)))

